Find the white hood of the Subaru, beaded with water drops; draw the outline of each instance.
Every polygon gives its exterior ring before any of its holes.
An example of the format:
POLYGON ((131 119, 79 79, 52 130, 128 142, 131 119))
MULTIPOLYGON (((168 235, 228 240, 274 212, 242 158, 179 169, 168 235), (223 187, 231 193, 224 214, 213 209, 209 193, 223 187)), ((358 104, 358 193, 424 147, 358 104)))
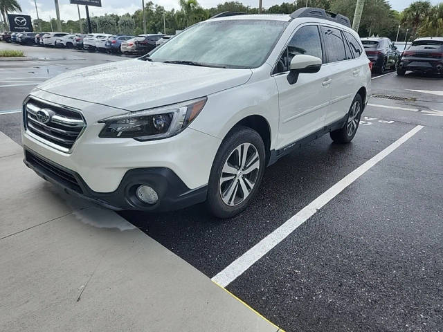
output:
POLYGON ((246 83, 250 69, 165 64, 131 59, 63 73, 37 89, 138 111, 210 95, 246 83))

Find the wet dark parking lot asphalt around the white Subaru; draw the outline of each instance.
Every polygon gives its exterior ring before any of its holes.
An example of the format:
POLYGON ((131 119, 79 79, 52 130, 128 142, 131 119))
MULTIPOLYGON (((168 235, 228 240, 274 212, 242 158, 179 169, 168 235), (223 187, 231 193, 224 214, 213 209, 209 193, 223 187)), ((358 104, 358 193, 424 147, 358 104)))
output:
MULTIPOLYGON (((66 59, 0 62, 0 131, 16 142, 20 113, 1 112, 19 109, 33 85, 8 80, 122 59, 53 51, 66 59)), ((285 331, 443 331, 442 93, 443 77, 373 77, 352 143, 323 136, 282 158, 232 219, 213 219, 204 205, 119 214, 213 278, 413 131, 224 286, 285 331)))

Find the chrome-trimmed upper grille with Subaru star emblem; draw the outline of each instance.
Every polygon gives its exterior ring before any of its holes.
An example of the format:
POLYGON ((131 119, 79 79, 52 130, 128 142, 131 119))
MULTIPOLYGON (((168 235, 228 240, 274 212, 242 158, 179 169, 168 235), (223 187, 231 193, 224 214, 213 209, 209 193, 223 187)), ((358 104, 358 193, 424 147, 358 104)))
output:
POLYGON ((71 149, 86 126, 78 111, 34 99, 25 104, 24 123, 27 131, 64 152, 71 149))

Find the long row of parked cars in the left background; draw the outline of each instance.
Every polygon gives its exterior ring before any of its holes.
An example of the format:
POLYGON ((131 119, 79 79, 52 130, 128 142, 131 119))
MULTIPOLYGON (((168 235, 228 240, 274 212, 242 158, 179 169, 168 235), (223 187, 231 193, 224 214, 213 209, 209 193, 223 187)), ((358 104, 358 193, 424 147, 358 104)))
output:
POLYGON ((110 35, 91 33, 87 35, 70 33, 10 33, 0 35, 5 42, 53 46, 60 48, 78 48, 89 52, 145 54, 168 40, 172 36, 163 34, 148 35, 110 35))

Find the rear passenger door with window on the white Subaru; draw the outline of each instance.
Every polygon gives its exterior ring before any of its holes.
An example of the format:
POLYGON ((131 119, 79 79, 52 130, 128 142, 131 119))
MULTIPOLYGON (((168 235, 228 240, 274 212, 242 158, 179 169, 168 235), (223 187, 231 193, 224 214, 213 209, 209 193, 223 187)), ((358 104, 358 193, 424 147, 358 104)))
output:
POLYGON ((341 29, 321 26, 325 43, 327 66, 330 77, 331 102, 325 115, 325 126, 343 120, 347 116, 356 93, 356 78, 359 76, 359 62, 350 56, 350 48, 341 29), (346 50, 347 48, 347 50, 346 50))

